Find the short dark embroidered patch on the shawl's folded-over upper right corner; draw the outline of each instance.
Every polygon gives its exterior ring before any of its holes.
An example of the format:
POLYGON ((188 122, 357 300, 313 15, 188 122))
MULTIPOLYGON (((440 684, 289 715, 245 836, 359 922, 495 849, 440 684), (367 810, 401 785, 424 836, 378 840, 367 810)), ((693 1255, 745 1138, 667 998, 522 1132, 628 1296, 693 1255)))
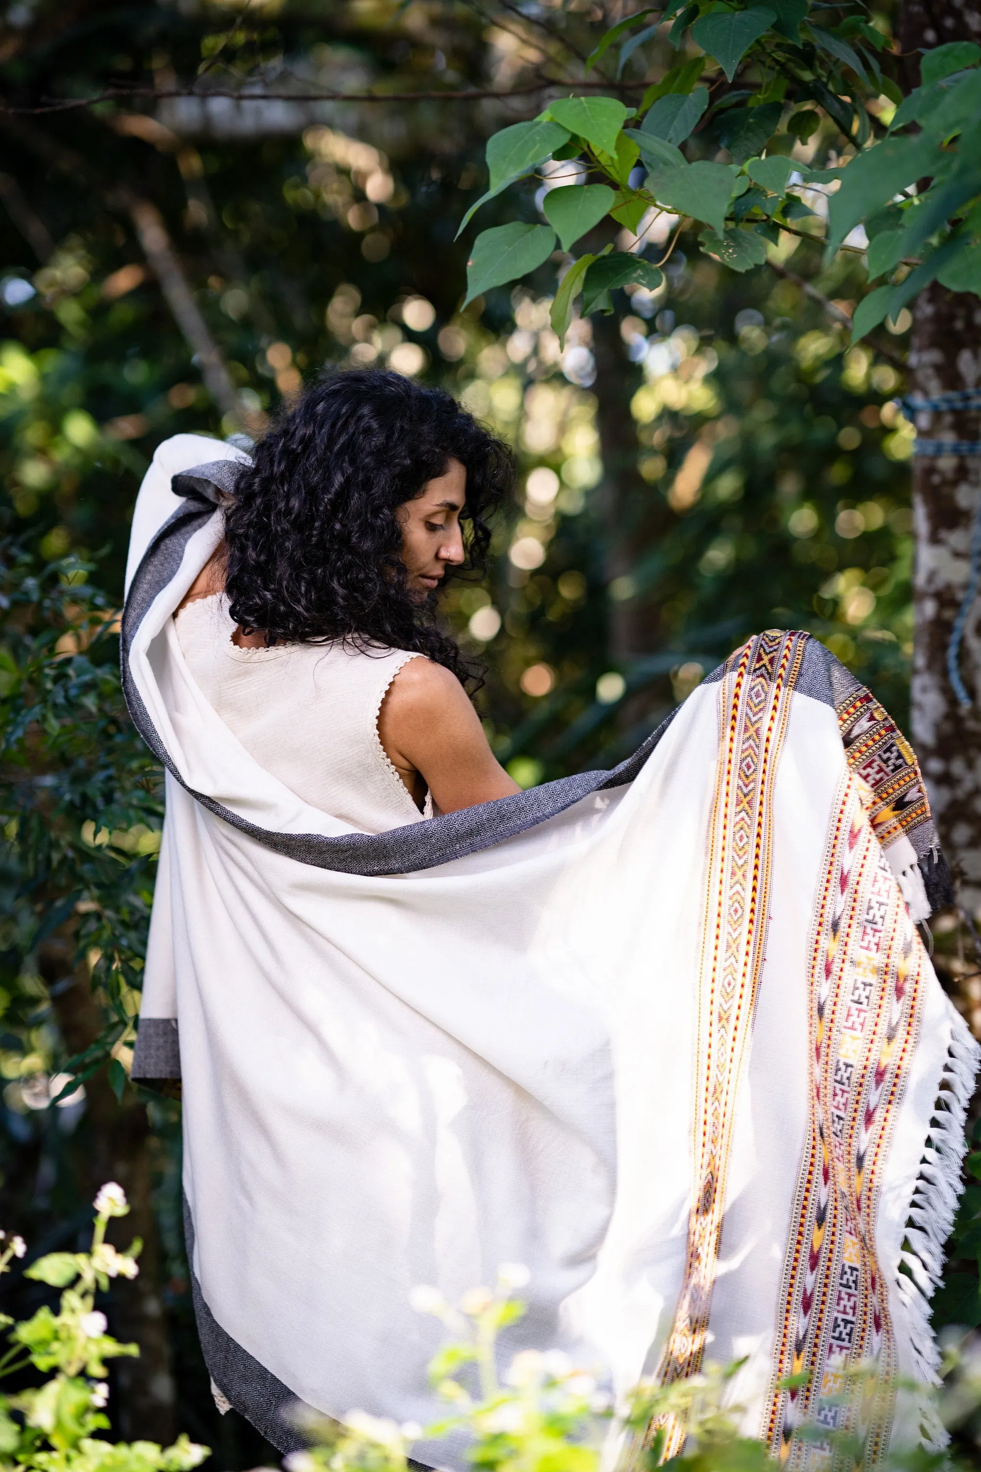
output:
POLYGON ((871 690, 856 683, 835 714, 849 767, 872 792, 869 821, 882 848, 925 823, 932 830, 913 749, 871 690))

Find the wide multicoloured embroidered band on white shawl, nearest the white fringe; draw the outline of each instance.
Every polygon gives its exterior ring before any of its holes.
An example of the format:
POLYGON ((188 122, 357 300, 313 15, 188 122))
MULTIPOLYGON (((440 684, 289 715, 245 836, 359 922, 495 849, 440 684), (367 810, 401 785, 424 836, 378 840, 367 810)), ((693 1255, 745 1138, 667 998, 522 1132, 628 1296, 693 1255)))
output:
POLYGON ((856 1428, 849 1370, 877 1362, 880 1400, 868 1462, 887 1444, 896 1370, 887 1289, 875 1254, 880 1167, 918 1029, 924 951, 849 782, 834 832, 812 951, 810 1125, 781 1287, 771 1387, 771 1451, 788 1466, 830 1468, 830 1441, 802 1420, 856 1428), (780 1390, 790 1376, 803 1385, 780 1390))

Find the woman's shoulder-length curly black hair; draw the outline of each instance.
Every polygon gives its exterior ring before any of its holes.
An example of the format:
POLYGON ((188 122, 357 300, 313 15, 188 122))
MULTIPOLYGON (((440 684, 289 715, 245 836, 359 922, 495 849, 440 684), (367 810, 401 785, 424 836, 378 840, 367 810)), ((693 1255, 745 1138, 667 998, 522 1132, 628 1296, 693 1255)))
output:
POLYGON ((257 445, 225 517, 229 614, 269 643, 354 640, 412 649, 478 679, 409 590, 396 511, 466 468, 466 573, 484 564, 485 517, 513 484, 513 456, 449 393, 375 369, 332 372, 257 445))

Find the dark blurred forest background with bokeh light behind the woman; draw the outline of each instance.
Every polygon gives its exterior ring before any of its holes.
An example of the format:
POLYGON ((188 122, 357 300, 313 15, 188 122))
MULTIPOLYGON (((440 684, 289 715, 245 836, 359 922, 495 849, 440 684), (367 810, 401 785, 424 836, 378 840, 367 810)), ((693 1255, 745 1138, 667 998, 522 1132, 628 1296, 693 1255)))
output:
MULTIPOLYGON (((124 1437, 166 1444, 184 1429, 216 1466, 275 1462, 210 1400, 179 1220, 179 1104, 128 1082, 162 785, 121 702, 116 614, 132 502, 160 440, 260 434, 304 381, 344 364, 441 384, 506 436, 518 495, 487 577, 454 584, 444 606, 488 667, 481 714, 524 786, 621 760, 763 627, 812 630, 905 724, 916 651, 943 667, 981 461, 915 462, 896 397, 924 387, 928 362, 931 392, 977 387, 977 297, 932 287, 850 346, 860 234, 828 263, 806 230, 774 230, 768 262, 735 272, 662 219, 641 240, 624 227, 616 247, 654 262, 672 246, 663 283, 613 291, 613 312, 577 316, 563 343, 550 321, 560 253, 462 308, 477 227, 454 237, 487 183, 487 138, 534 116, 556 78, 581 79, 597 38, 640 10, 3 9, 3 1225, 32 1256, 71 1250, 94 1188, 124 1183, 126 1225, 147 1244, 140 1278, 107 1303, 113 1332, 143 1347, 113 1370, 124 1437), (944 365, 953 377, 938 383, 944 365), (916 601, 913 478, 921 502, 946 498, 959 537, 949 586, 916 601)), ((835 24, 852 10, 828 7, 835 24)), ((981 25, 956 4, 882 4, 868 19, 906 88, 919 46, 981 25)), ((677 60, 666 31, 628 26, 594 84, 638 102, 677 60)), ((818 116, 794 158, 834 165, 834 121, 818 116)), ((547 188, 518 184, 482 225, 541 219, 547 188)), ((959 437, 971 424, 957 417, 959 437)), ((977 668, 971 620, 968 689, 977 668)), ((928 773, 938 790, 959 773, 940 821, 962 907, 934 923, 937 964, 981 1035, 981 726, 950 704, 928 773)), ((981 1322, 980 1191, 938 1322, 981 1322)), ((43 1292, 21 1281, 10 1312, 43 1292)))

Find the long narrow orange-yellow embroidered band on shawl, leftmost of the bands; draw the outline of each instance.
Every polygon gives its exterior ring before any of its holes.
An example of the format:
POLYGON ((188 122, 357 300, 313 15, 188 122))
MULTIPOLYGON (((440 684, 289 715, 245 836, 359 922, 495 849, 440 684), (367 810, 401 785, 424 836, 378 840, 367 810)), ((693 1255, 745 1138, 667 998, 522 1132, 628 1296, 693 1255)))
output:
MULTIPOLYGON (((790 698, 806 634, 768 631, 750 640, 722 682, 721 752, 712 817, 712 861, 699 1001, 694 1182, 685 1276, 657 1378, 685 1379, 702 1366, 722 1231, 735 1088, 750 1038, 763 960, 769 895, 771 807, 790 698)), ((663 1457, 681 1450, 674 1422, 663 1457)))

